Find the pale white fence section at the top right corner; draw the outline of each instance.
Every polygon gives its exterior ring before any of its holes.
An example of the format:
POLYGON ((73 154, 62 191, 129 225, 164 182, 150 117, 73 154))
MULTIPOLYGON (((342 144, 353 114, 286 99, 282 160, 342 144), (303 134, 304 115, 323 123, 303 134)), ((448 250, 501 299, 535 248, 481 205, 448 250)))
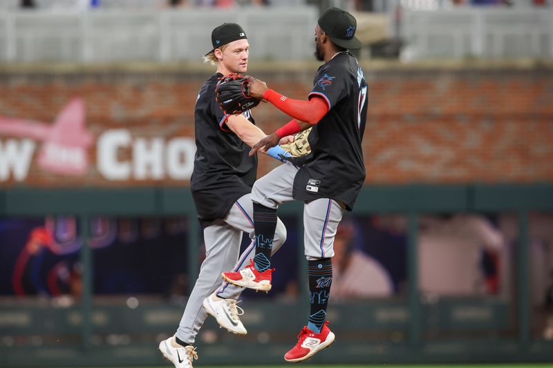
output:
POLYGON ((553 58, 551 8, 452 8, 402 13, 404 61, 432 58, 553 58))

